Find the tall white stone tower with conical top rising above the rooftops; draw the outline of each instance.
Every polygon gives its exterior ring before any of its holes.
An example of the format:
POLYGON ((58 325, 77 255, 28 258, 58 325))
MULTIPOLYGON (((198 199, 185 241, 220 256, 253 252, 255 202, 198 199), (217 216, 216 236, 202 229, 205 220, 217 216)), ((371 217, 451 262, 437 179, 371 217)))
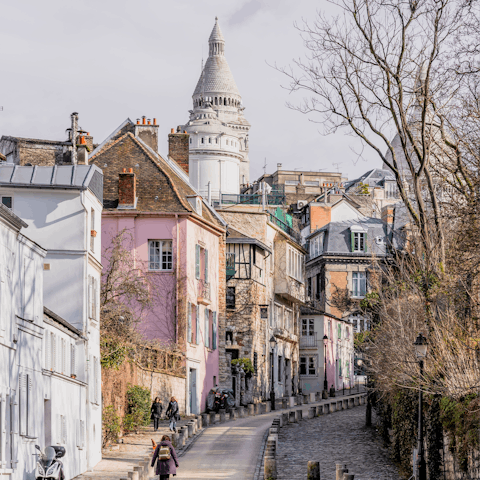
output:
POLYGON ((217 19, 209 38, 209 56, 193 93, 190 120, 190 183, 204 197, 240 193, 249 181, 248 132, 242 97, 225 58, 225 39, 217 19))

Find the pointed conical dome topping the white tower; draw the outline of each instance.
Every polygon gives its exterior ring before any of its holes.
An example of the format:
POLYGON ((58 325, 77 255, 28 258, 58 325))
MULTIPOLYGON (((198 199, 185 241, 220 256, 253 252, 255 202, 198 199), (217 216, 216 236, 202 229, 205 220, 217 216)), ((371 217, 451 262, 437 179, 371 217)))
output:
POLYGON ((193 96, 221 93, 241 98, 224 55, 225 39, 217 18, 208 43, 210 45, 209 56, 193 96))

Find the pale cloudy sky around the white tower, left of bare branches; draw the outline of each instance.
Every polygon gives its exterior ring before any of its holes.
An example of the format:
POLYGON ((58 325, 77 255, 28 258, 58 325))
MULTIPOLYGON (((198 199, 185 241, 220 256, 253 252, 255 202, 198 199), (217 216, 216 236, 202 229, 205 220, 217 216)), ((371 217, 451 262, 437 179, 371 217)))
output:
POLYGON ((283 169, 340 171, 352 179, 381 166, 378 156, 287 102, 288 79, 272 66, 305 55, 295 22, 326 0, 16 0, 1 2, 0 135, 66 139, 70 114, 101 143, 127 117, 156 118, 159 151, 187 122, 208 56, 215 16, 250 130, 250 178, 283 169))

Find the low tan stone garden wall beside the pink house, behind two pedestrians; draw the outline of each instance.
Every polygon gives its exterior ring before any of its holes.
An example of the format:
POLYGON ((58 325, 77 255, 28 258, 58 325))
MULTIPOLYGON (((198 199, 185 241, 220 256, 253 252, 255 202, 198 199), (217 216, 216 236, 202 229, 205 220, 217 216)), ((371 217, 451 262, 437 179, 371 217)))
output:
POLYGON ((164 409, 167 408, 170 397, 174 396, 178 401, 180 414, 185 413, 185 377, 153 372, 129 361, 125 361, 118 370, 102 369, 103 405, 113 405, 123 418, 129 385, 148 388, 152 401, 155 397, 160 397, 164 409))

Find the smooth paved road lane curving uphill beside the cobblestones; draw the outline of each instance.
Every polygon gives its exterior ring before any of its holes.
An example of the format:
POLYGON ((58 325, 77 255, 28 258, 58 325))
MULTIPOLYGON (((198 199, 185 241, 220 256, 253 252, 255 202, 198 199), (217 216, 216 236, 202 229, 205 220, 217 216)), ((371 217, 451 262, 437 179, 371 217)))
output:
POLYGON ((265 431, 277 415, 278 412, 272 412, 207 428, 179 459, 175 478, 252 479, 265 431))

